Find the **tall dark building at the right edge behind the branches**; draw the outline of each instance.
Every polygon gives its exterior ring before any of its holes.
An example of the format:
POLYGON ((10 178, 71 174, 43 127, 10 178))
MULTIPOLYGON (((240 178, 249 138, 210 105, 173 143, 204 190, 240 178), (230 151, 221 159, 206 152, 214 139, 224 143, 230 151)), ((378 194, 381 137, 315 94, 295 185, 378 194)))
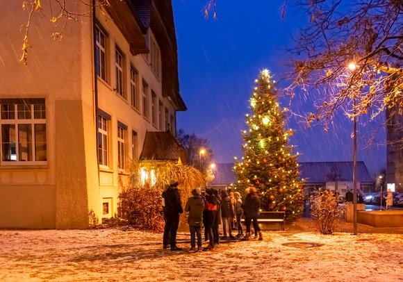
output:
POLYGON ((403 192, 403 115, 398 113, 397 105, 386 109, 386 183, 403 192))

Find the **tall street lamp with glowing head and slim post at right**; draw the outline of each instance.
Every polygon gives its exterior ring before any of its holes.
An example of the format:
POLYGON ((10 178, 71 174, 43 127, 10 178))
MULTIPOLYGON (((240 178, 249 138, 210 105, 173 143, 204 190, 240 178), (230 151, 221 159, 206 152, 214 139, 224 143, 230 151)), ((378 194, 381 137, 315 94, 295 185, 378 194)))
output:
MULTIPOLYGON (((348 64, 348 69, 352 72, 356 69, 356 64, 351 62, 348 64)), ((354 90, 355 91, 355 90, 354 90)), ((356 124, 356 94, 353 96, 353 234, 357 234, 357 124, 356 124)))

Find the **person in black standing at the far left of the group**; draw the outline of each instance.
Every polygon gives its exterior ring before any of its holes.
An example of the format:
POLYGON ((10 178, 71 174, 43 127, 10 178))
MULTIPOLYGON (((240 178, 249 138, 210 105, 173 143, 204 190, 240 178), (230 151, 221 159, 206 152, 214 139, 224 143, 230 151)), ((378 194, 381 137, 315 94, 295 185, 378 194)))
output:
MULTIPOLYGON (((176 232, 179 226, 179 216, 183 213, 181 194, 178 190, 177 181, 171 181, 170 187, 163 192, 163 198, 166 214, 165 230, 170 233, 171 251, 181 251, 182 248, 176 246, 176 232)), ((164 246, 166 249, 166 245, 164 246)))

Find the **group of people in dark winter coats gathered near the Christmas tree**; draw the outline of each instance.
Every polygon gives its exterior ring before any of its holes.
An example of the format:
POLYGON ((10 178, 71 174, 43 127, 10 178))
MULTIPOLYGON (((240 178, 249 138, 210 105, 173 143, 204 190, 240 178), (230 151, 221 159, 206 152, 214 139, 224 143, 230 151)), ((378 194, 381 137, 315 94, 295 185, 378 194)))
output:
MULTIPOLYGON (((212 250, 220 244, 220 224, 222 224, 222 239, 249 240, 251 224, 254 226, 254 238, 263 240, 258 226, 260 199, 256 188, 245 189, 245 200, 242 202, 239 192, 217 190, 209 187, 192 190, 192 196, 186 201, 185 212, 188 213, 190 231, 190 250, 202 251, 201 229, 204 228, 204 240, 212 250), (241 219, 245 218, 246 231, 243 232, 241 219), (238 231, 233 235, 233 229, 238 231), (227 237, 228 235, 228 237, 227 237), (197 239, 197 241, 196 241, 197 239), (196 248, 197 247, 197 248, 196 248)), ((178 182, 171 181, 162 194, 165 229, 163 235, 163 249, 181 251, 176 245, 176 233, 179 226, 179 217, 183 213, 181 195, 178 182)))

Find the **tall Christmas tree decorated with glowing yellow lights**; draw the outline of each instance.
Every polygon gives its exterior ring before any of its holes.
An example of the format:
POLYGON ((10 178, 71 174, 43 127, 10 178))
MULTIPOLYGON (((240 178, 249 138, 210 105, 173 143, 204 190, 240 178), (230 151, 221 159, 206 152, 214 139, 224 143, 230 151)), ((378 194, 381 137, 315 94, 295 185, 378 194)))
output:
POLYGON ((253 186, 258 189, 262 210, 284 210, 288 219, 302 213, 302 181, 299 181, 297 154, 288 138, 285 113, 277 101, 268 69, 255 81, 250 99, 252 113, 246 115, 247 131, 243 131, 244 156, 235 160, 238 188, 253 186))

